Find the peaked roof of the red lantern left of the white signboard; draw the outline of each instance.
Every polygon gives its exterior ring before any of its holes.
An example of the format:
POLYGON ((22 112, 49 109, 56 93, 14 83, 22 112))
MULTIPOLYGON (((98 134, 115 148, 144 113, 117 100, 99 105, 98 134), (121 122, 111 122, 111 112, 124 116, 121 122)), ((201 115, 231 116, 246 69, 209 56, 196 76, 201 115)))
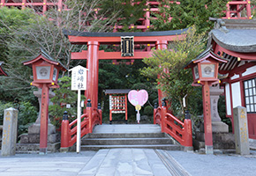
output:
POLYGON ((48 55, 42 48, 41 48, 41 54, 36 56, 34 59, 23 62, 24 65, 31 66, 34 62, 37 62, 39 60, 44 60, 46 62, 49 62, 53 65, 56 65, 60 68, 60 70, 67 70, 64 65, 61 62, 55 61, 50 55, 48 55))

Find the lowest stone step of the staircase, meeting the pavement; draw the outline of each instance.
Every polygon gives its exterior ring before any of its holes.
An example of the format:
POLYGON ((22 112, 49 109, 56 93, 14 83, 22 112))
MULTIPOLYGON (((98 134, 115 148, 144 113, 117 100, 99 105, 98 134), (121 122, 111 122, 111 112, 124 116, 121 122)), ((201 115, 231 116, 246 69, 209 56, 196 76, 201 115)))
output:
POLYGON ((82 145, 81 150, 101 150, 101 149, 160 149, 160 150, 184 150, 183 146, 175 144, 151 144, 151 145, 82 145))

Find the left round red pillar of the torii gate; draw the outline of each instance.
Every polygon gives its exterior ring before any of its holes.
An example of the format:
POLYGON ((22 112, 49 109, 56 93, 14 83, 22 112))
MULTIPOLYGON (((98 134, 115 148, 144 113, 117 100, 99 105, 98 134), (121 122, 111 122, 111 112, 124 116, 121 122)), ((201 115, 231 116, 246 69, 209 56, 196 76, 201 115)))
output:
POLYGON ((87 91, 85 96, 91 99, 92 107, 98 106, 98 80, 99 80, 99 48, 98 41, 87 42, 87 91))

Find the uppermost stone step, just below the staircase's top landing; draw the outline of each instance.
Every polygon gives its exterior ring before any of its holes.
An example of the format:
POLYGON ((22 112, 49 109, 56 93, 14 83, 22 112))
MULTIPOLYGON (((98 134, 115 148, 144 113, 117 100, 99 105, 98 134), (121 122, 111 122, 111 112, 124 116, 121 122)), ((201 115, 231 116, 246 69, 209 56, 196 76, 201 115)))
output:
POLYGON ((164 133, 90 133, 84 138, 145 138, 165 137, 164 133))

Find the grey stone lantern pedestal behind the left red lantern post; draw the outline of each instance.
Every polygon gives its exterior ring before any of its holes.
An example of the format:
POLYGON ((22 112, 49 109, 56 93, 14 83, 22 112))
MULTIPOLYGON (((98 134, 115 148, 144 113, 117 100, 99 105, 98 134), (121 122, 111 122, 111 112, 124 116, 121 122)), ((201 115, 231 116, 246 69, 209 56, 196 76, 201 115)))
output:
MULTIPOLYGON (((41 89, 34 91, 34 96, 38 98, 39 101, 39 114, 33 125, 28 127, 28 134, 40 134, 40 122, 41 122, 41 89)), ((49 99, 55 96, 55 92, 49 91, 49 99)), ((48 119, 48 135, 56 133, 56 128, 50 123, 48 119)))

